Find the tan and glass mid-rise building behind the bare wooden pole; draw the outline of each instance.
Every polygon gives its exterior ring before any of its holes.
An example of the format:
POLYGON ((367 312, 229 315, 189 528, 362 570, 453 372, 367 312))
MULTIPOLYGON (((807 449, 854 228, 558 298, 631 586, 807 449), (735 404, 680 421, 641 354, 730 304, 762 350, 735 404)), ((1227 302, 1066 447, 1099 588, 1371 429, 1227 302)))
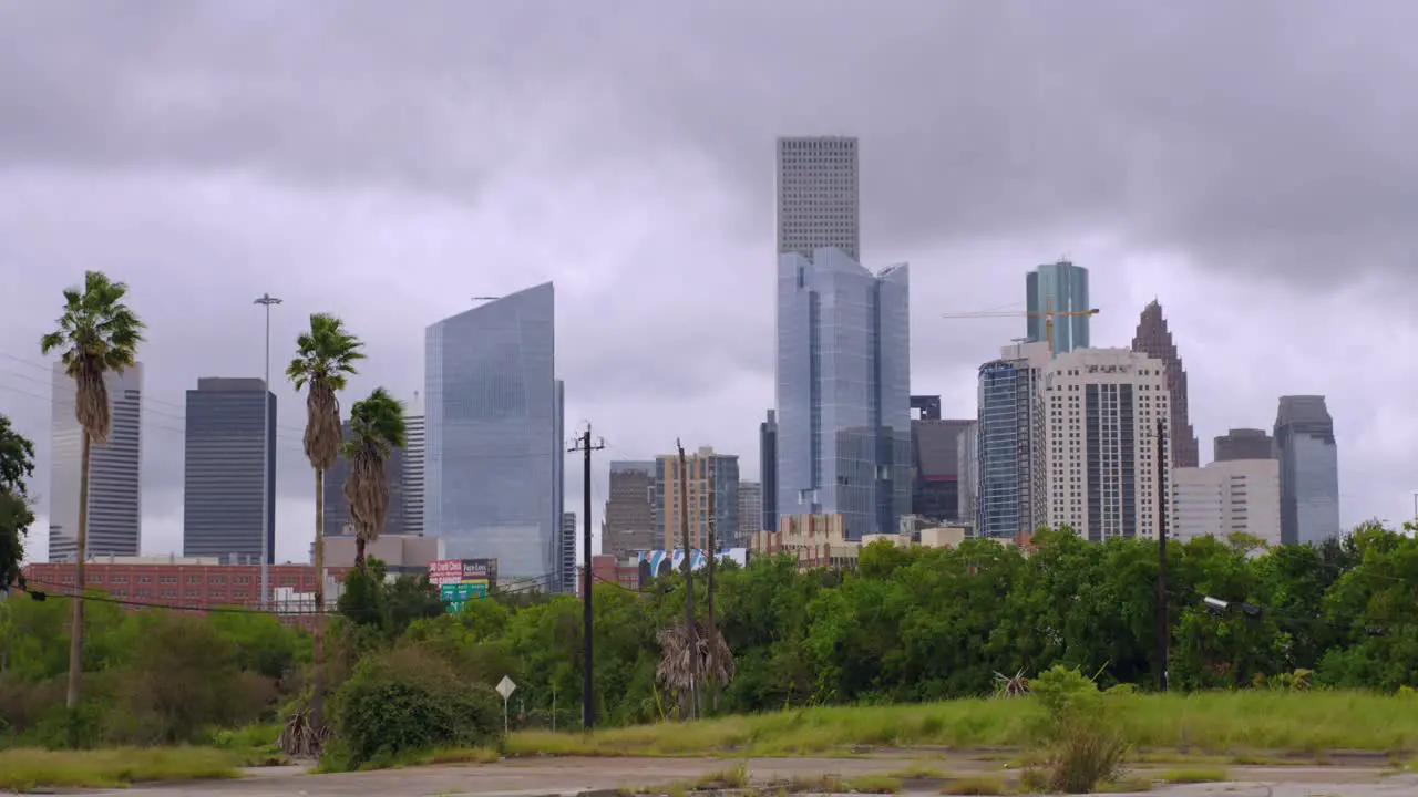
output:
POLYGON ((655 526, 665 550, 683 547, 681 496, 689 508, 689 545, 700 550, 709 545, 713 519, 715 547, 733 547, 739 539, 739 457, 718 454, 703 447, 685 457, 679 469, 678 454, 655 458, 655 526), (683 491, 681 491, 683 481, 683 491), (712 496, 712 512, 710 512, 712 496))

